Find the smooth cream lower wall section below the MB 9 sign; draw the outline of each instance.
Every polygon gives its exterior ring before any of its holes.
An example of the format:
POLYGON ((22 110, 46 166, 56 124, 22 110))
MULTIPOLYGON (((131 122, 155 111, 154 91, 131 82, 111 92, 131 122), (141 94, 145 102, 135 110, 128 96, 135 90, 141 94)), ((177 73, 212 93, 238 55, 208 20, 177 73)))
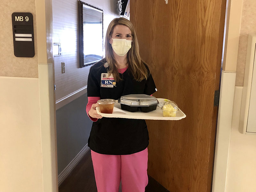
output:
POLYGON ((43 192, 38 78, 0 76, 0 90, 0 191, 43 192))

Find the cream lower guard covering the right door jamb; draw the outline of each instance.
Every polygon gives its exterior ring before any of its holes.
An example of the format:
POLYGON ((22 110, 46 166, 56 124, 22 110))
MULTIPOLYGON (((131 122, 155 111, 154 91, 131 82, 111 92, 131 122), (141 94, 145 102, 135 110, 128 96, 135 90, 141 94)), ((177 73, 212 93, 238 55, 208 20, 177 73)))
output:
POLYGON ((212 192, 225 192, 236 73, 222 71, 212 192))

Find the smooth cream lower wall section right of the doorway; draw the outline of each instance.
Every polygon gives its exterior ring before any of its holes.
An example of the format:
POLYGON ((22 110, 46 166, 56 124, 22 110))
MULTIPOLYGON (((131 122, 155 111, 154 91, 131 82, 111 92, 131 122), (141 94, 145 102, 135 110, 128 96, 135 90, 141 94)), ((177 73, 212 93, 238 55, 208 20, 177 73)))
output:
POLYGON ((242 90, 243 87, 236 86, 226 192, 256 191, 256 135, 245 135, 238 131, 242 90))

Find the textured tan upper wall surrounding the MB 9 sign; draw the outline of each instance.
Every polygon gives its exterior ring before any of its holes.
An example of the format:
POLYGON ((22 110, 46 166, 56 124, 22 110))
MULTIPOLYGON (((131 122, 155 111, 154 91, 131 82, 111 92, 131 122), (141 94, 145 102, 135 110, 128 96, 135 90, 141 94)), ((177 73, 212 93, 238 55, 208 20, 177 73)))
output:
POLYGON ((0 76, 38 77, 36 44, 36 4, 35 0, 4 0, 0 4, 0 76), (15 57, 13 53, 12 13, 31 12, 34 24, 35 56, 33 58, 15 57))

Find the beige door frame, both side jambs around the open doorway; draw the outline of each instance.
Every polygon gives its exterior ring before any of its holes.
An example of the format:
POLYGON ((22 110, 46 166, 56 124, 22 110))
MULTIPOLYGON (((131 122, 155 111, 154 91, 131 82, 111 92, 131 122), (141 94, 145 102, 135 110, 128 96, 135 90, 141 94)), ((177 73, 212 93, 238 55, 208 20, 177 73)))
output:
MULTIPOLYGON (((240 33, 240 22, 237 22, 237 18, 241 21, 243 1, 231 2, 227 0, 227 12, 226 12, 226 35, 224 45, 224 59, 223 59, 223 71, 236 72, 237 52, 240 33), (234 56, 235 55, 235 56, 234 56)), ((56 144, 56 110, 55 110, 55 93, 54 93, 54 63, 52 58, 52 1, 36 1, 36 28, 37 28, 37 44, 43 47, 40 50, 38 46, 38 72, 39 72, 39 91, 40 91, 40 116, 41 116, 41 129, 46 126, 49 129, 46 130, 45 135, 42 135, 42 160, 43 160, 43 178, 44 178, 44 191, 57 192, 58 191, 58 175, 57 175, 57 144, 56 144), (43 5, 43 6, 42 6, 43 5), (45 9, 43 9, 45 8, 45 9), (46 14, 49 13, 49 14, 46 14), (44 29, 44 30, 42 30, 44 29), (40 31, 41 30, 41 31, 40 31), (47 40, 47 41, 46 41, 47 40), (43 43, 45 46, 42 46, 43 43), (48 51, 47 51, 48 50, 48 51), (46 96, 45 91, 49 93, 46 96), (43 104, 44 102, 44 104, 43 104), (47 107, 45 102, 50 105, 47 107), (46 120, 46 121, 44 121, 46 120), (46 124, 45 124, 46 123, 46 124), (53 135, 51 133, 54 133, 53 135), (47 150, 49 151, 47 152, 47 150), (49 171, 50 170, 50 171, 49 171), (48 179, 47 179, 48 178, 48 179), (50 189, 50 190, 47 190, 50 189)), ((225 79, 222 79, 223 83, 225 79)), ((222 82, 221 81, 221 82, 222 82)), ((223 92, 220 92, 220 98, 224 96, 223 92)), ((230 98, 227 98, 230 100, 230 98)), ((224 99, 223 99, 224 100, 224 99)), ((217 126, 216 136, 216 149, 214 159, 213 170, 213 183, 212 192, 225 192, 226 176, 228 166, 228 149, 230 140, 231 124, 227 127, 222 127, 221 124, 225 122, 221 121, 221 107, 219 106, 219 119, 217 126), (223 137, 226 135, 227 137, 223 137), (221 137, 222 136, 222 137, 221 137), (228 142, 227 142, 228 141, 228 142), (221 151, 218 145, 224 146, 225 151, 221 151), (225 155, 222 155, 225 154, 225 155), (218 172, 219 170, 219 172, 218 172)), ((233 105, 232 105, 233 108, 233 105)), ((232 112, 231 112, 232 113, 232 112)), ((232 114, 231 114, 232 115, 232 114)), ((230 119, 226 119, 230 122, 230 119)))

